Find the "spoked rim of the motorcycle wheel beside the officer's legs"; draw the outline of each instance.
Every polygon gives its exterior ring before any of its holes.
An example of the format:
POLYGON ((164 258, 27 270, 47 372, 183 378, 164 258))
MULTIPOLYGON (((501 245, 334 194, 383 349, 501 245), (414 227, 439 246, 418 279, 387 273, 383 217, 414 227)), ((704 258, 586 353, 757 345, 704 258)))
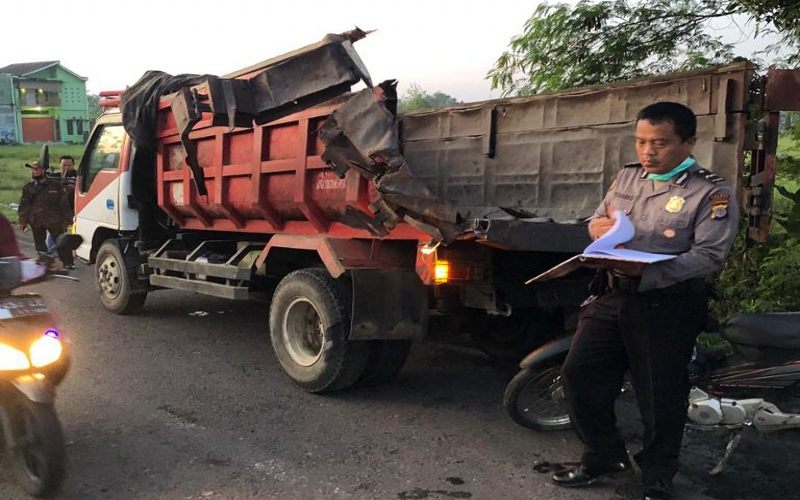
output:
POLYGON ((520 391, 517 410, 525 419, 543 426, 569 424, 564 385, 558 367, 543 370, 520 391))

